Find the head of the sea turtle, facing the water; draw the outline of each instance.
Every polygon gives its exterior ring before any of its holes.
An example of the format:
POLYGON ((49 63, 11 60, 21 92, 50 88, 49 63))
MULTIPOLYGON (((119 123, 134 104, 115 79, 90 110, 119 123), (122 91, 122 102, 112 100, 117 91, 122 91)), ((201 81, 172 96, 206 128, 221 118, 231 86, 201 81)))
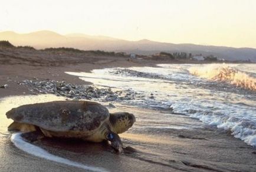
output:
POLYGON ((127 112, 110 113, 109 120, 113 126, 113 132, 117 134, 127 131, 136 121, 134 115, 127 112))

